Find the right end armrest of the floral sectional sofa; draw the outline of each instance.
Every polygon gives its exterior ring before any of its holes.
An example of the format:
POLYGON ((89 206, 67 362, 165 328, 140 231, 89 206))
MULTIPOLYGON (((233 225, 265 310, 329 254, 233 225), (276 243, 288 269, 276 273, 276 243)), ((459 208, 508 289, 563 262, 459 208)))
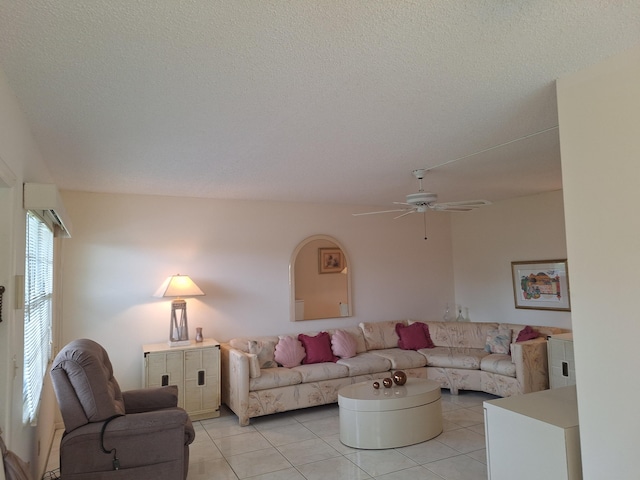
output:
POLYGON ((521 393, 549 388, 547 340, 535 338, 511 344, 511 361, 516 366, 516 378, 521 393))

